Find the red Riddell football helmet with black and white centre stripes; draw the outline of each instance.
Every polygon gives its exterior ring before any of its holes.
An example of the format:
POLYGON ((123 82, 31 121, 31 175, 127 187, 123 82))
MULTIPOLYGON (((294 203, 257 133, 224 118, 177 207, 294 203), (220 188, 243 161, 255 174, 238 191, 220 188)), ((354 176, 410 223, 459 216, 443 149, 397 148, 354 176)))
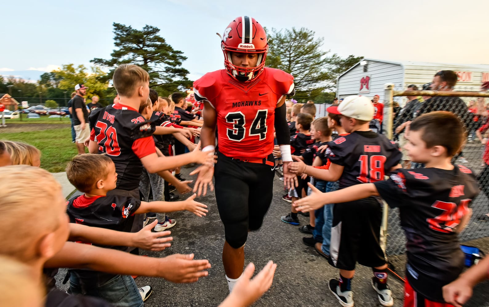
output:
POLYGON ((241 16, 231 21, 222 35, 222 52, 227 73, 238 81, 246 82, 258 77, 265 67, 268 42, 262 25, 254 18, 241 16), (241 67, 234 65, 231 52, 256 53, 256 67, 241 67))

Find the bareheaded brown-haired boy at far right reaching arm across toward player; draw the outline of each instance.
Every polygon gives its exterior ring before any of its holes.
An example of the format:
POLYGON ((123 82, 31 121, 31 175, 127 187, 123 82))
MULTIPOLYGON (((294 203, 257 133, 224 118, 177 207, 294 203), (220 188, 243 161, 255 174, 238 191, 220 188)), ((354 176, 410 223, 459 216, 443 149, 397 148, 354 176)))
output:
POLYGON ((442 287, 464 267, 458 233, 470 218, 472 199, 479 194, 472 172, 451 164, 460 151, 464 131, 451 112, 424 114, 410 124, 405 149, 411 161, 425 168, 399 168, 387 181, 326 194, 314 190, 295 204, 299 210, 311 210, 327 201, 351 209, 352 200, 381 196, 389 206, 399 207, 407 238, 405 307, 452 306, 444 302, 442 287))

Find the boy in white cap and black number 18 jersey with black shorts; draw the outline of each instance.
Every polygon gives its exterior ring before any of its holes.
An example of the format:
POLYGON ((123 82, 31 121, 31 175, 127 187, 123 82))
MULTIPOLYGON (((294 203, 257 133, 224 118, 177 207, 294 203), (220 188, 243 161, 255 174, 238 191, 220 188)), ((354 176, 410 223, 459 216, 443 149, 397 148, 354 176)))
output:
MULTIPOLYGON (((369 129, 374 106, 368 98, 349 96, 337 107, 329 108, 329 112, 339 114, 342 127, 350 133, 328 143, 329 169, 317 169, 300 162, 289 165, 292 172, 306 173, 329 182, 339 180, 342 189, 383 180, 384 174, 396 169, 401 153, 385 136, 369 129)), ((322 205, 328 203, 331 202, 325 201, 322 205)), ((379 302, 383 306, 394 304, 387 286, 387 264, 379 245, 381 217, 380 203, 372 197, 333 208, 329 262, 340 269, 340 278, 331 279, 329 285, 344 307, 354 304, 351 280, 356 262, 372 267, 379 302)))

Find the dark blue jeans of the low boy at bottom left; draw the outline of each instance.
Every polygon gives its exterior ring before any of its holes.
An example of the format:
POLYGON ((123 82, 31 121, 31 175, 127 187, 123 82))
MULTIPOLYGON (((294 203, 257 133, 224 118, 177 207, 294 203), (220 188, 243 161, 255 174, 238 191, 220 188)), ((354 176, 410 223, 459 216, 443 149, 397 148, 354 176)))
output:
POLYGON ((99 281, 97 275, 97 272, 94 272, 93 278, 80 278, 76 272, 71 271, 69 276, 71 292, 99 297, 117 307, 144 306, 139 289, 131 276, 116 275, 108 281, 99 281))

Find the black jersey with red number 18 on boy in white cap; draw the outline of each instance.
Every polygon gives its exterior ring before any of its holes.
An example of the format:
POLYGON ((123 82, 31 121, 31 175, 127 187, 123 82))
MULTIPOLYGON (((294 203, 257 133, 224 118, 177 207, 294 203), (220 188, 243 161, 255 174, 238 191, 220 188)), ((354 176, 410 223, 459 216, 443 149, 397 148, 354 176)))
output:
POLYGON ((402 154, 384 135, 355 131, 328 143, 326 155, 333 164, 344 166, 339 188, 384 180, 399 164, 402 154))

